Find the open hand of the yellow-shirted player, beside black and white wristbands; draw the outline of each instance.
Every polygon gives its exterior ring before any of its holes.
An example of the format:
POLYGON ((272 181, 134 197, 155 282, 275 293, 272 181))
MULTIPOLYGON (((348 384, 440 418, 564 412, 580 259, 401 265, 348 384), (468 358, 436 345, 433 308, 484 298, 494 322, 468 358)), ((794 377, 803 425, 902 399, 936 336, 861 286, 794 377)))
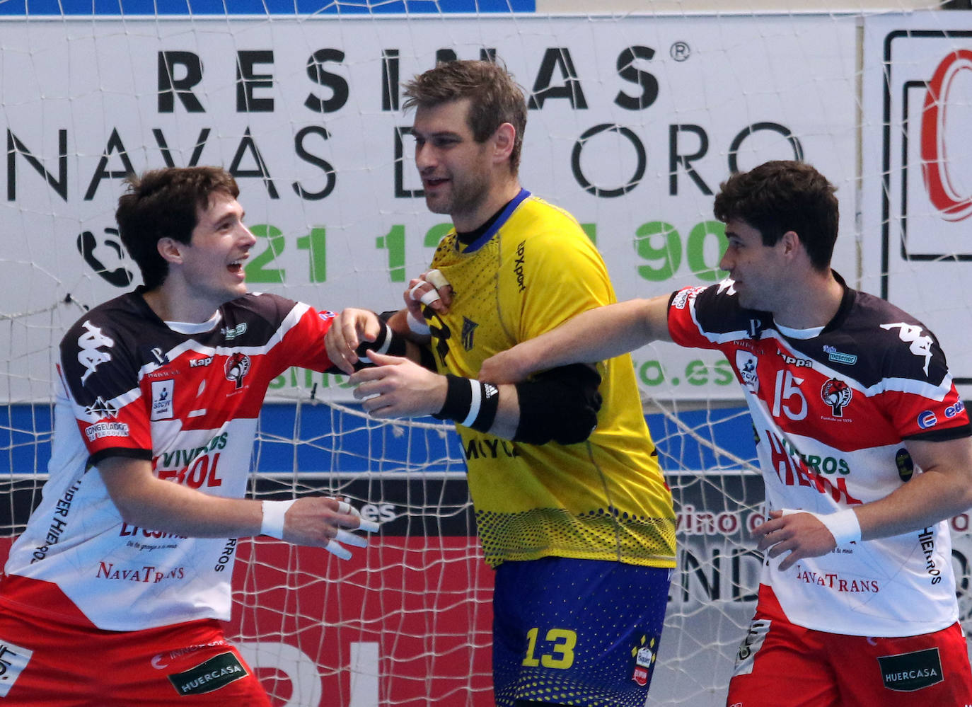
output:
POLYGON ((355 398, 372 417, 418 417, 442 409, 448 381, 408 359, 367 352, 375 364, 351 376, 355 398))

